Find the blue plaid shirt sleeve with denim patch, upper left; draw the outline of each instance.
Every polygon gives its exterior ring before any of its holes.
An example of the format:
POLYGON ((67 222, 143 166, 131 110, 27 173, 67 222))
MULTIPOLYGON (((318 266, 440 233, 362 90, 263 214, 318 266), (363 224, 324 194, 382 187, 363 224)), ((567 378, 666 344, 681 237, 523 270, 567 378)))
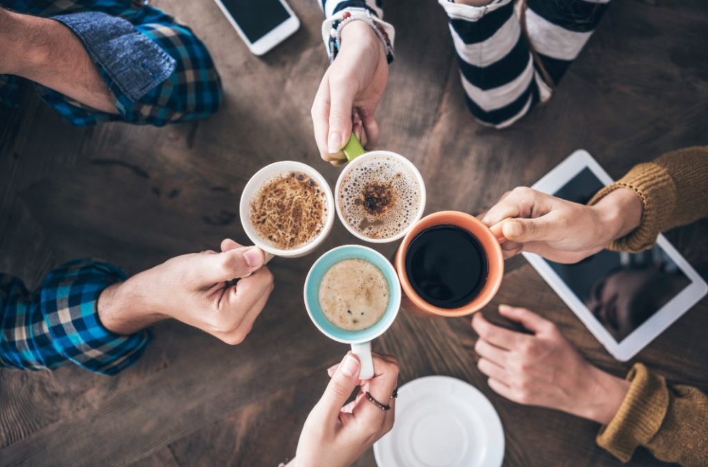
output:
MULTIPOLYGON (((0 7, 53 18, 84 43, 118 115, 35 84, 42 99, 74 125, 121 120, 162 126, 205 118, 219 108, 221 80, 205 45, 143 0, 0 0, 0 7)), ((0 75, 0 111, 18 105, 21 81, 0 75)))

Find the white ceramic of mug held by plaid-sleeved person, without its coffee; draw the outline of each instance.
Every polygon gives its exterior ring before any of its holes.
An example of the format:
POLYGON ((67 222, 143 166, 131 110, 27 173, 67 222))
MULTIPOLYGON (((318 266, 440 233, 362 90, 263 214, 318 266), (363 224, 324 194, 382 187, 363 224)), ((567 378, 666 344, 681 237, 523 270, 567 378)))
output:
POLYGON ((270 164, 261 168, 260 171, 256 172, 255 175, 251 177, 249 183, 246 183, 244 191, 241 192, 241 202, 239 203, 239 214, 241 216, 241 225, 244 226, 244 231, 246 235, 251 239, 253 245, 261 248, 265 251, 266 263, 272 259, 274 256, 280 256, 282 258, 298 258, 300 256, 307 255, 311 253, 315 248, 317 248, 323 241, 326 240, 327 236, 332 230, 334 225, 334 199, 332 197, 332 190, 327 184, 327 180, 314 168, 304 164, 302 162, 295 161, 280 161, 270 164), (268 180, 272 180, 278 175, 287 174, 290 172, 301 172, 312 178, 318 185, 319 188, 324 192, 326 198, 326 219, 324 221, 324 226, 322 231, 317 234, 315 238, 311 241, 305 243, 297 248, 292 248, 290 250, 284 250, 281 248, 275 248, 273 245, 264 241, 263 238, 258 236, 258 232, 251 224, 251 200, 258 193, 258 190, 263 186, 268 180))

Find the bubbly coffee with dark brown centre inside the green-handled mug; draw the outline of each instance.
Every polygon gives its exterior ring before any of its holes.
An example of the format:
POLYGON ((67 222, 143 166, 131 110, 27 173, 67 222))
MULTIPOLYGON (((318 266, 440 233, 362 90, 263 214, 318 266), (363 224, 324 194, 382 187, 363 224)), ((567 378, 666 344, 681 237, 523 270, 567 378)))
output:
POLYGON ((377 155, 344 176, 337 203, 346 223, 360 235, 390 238, 416 219, 421 187, 401 161, 377 155))

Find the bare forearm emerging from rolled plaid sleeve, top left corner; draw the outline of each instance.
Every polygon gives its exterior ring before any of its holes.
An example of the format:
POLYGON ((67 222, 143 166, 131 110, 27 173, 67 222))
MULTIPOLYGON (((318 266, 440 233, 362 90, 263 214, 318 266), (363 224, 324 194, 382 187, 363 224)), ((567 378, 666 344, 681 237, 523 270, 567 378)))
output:
POLYGON ((58 21, 0 8, 0 74, 40 83, 84 105, 118 113, 81 40, 58 21))

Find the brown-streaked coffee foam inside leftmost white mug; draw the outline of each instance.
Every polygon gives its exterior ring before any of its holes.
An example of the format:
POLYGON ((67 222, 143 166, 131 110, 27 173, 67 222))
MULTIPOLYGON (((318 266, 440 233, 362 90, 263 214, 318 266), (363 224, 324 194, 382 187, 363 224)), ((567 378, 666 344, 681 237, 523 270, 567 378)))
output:
POLYGON ((280 250, 306 245, 324 229, 327 200, 319 183, 291 171, 266 180, 251 199, 251 225, 261 240, 280 250))

